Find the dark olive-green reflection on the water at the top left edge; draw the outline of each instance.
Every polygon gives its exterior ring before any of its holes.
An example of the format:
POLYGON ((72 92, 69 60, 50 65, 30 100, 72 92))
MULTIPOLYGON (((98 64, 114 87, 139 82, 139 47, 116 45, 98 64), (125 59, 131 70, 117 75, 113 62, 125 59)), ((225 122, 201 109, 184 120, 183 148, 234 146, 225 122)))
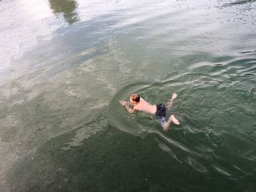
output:
POLYGON ((78 3, 72 0, 49 0, 50 9, 53 13, 59 15, 63 13, 64 19, 67 23, 72 24, 79 20, 78 12, 75 9, 78 7, 78 3))

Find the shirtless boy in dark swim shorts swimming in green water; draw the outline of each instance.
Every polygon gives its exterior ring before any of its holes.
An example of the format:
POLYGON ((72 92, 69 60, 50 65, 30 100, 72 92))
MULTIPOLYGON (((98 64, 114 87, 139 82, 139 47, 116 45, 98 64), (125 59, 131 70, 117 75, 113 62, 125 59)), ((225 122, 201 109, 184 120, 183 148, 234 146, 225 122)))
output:
POLYGON ((146 112, 152 115, 157 115, 157 118, 160 120, 164 131, 167 131, 170 123, 173 122, 176 125, 179 125, 178 120, 174 117, 174 115, 170 115, 170 118, 166 120, 166 110, 170 110, 170 106, 173 104, 173 100, 176 99, 177 94, 173 93, 170 102, 165 104, 150 104, 146 100, 140 97, 137 93, 134 93, 129 96, 129 102, 127 101, 119 101, 121 105, 124 105, 127 108, 127 111, 130 113, 140 111, 146 112), (132 107, 130 107, 132 105, 132 107))

